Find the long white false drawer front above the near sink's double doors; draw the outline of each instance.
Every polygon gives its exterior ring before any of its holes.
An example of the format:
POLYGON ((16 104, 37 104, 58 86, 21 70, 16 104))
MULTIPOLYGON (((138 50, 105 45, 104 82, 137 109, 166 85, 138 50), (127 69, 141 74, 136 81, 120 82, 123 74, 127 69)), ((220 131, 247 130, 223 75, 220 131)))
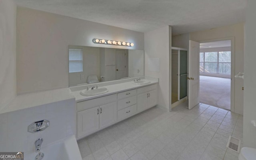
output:
POLYGON ((100 106, 102 104, 107 104, 110 102, 114 102, 116 101, 116 94, 111 94, 109 96, 104 96, 104 97, 100 97, 100 98, 95 98, 92 100, 86 100, 83 102, 78 102, 76 104, 76 109, 77 112, 82 111, 82 110, 86 110, 95 106, 100 106))

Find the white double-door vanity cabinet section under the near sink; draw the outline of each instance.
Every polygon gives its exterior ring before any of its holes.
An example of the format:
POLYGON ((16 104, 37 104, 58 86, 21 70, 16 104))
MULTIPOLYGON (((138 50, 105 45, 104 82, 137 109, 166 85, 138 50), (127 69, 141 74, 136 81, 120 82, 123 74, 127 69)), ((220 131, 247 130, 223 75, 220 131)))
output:
POLYGON ((117 96, 112 94, 77 103, 77 138, 117 121, 117 96), (114 102, 113 102, 114 101, 114 102))

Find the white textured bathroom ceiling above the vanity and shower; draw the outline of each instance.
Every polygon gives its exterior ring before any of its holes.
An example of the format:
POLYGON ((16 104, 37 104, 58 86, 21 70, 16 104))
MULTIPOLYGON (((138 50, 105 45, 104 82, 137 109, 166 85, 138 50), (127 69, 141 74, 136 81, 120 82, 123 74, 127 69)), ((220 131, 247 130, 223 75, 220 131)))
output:
POLYGON ((184 34, 244 22, 246 0, 15 0, 18 6, 147 32, 184 34))

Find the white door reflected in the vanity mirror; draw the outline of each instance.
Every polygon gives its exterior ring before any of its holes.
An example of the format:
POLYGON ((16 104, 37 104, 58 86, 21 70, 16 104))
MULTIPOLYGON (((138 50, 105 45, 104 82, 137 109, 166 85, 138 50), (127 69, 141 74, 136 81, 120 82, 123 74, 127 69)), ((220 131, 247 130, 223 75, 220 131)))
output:
POLYGON ((116 80, 128 77, 126 74, 126 52, 125 50, 116 50, 116 80))

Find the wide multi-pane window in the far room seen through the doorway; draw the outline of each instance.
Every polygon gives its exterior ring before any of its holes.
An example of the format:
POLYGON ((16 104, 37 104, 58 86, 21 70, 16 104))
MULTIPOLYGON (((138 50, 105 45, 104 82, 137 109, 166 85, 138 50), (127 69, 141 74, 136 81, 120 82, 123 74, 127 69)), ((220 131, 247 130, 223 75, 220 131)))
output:
POLYGON ((200 72, 231 73, 231 52, 200 52, 200 72))

